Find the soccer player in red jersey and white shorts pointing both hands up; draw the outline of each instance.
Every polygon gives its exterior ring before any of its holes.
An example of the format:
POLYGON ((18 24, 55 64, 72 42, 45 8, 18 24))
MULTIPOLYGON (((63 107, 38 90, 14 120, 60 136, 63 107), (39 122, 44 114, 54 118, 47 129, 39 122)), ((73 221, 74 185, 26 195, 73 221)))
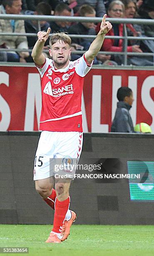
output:
MULTIPOLYGON (((112 28, 102 18, 100 31, 89 50, 76 61, 70 61, 71 38, 65 33, 54 33, 50 37, 49 54, 42 54, 50 28, 39 31, 38 40, 32 50, 32 58, 41 75, 42 110, 40 130, 42 131, 34 163, 34 180, 37 192, 55 209, 53 229, 47 243, 61 243, 70 233, 75 221, 75 212, 69 210, 69 187, 71 179, 55 178, 51 166, 55 159, 70 163, 79 159, 82 151, 81 98, 84 76, 92 67, 94 57, 99 52, 105 34, 112 28)), ((65 170, 64 170, 65 174, 65 170)))

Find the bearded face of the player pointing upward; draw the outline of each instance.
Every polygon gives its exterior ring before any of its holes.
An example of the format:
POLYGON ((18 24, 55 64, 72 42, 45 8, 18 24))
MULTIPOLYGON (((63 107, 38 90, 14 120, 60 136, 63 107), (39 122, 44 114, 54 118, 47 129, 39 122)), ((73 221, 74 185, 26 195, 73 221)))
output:
POLYGON ((57 41, 49 49, 50 56, 54 61, 56 68, 65 68, 69 63, 69 57, 71 49, 69 44, 65 44, 63 41, 57 41))

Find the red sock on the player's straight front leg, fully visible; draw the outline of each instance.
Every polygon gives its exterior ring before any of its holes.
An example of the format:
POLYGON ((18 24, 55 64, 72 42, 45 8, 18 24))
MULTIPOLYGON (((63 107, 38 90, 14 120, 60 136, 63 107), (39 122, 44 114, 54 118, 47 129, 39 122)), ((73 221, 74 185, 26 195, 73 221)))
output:
POLYGON ((60 227, 62 226, 63 221, 65 220, 65 215, 67 213, 67 210, 69 209, 69 206, 70 206, 70 197, 68 197, 64 201, 59 201, 56 198, 55 215, 54 215, 52 231, 56 233, 60 233, 60 227))

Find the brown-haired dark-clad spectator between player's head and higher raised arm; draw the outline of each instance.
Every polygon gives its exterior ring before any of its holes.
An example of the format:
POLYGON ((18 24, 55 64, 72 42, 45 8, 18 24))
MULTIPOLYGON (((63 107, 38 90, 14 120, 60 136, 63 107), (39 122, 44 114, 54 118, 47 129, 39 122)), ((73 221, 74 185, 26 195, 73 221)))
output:
MULTIPOLYGON (((90 5, 82 5, 79 8, 79 16, 81 17, 92 18, 92 17, 95 17, 95 15, 96 15, 96 11, 90 5)), ((73 24, 68 29, 68 33, 75 34, 75 35, 95 35, 96 34, 93 22, 79 22, 77 24, 73 24)), ((87 51, 93 40, 94 40, 93 38, 84 38, 84 37, 72 38, 72 45, 77 50, 82 49, 84 51, 87 51)), ((109 58, 110 56, 107 56, 105 54, 98 54, 97 59, 94 59, 94 64, 98 64, 99 63, 98 60, 103 62, 109 58)))

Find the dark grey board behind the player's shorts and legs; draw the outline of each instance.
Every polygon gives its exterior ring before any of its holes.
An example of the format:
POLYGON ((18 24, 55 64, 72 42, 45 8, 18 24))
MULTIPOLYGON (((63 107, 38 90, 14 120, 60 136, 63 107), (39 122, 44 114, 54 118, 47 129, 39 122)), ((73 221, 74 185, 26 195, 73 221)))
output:
MULTIPOLYGON (((53 222, 54 212, 33 182, 39 136, 39 132, 0 132, 0 223, 53 222)), ((154 135, 84 134, 79 164, 86 159, 116 161, 114 171, 128 173, 128 160, 154 161, 154 135)), ((154 201, 131 201, 127 179, 75 179, 70 196, 77 224, 154 224, 154 201)))

